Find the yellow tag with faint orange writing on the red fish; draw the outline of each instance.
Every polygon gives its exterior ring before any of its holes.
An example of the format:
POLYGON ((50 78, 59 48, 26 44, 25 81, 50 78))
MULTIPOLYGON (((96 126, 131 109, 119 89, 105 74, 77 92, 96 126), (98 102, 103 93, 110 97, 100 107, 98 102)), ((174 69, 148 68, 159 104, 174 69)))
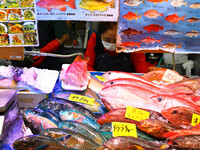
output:
POLYGON ((130 106, 126 107, 125 118, 140 121, 140 120, 145 120, 149 118, 149 116, 150 116, 150 113, 148 111, 130 107, 130 106))

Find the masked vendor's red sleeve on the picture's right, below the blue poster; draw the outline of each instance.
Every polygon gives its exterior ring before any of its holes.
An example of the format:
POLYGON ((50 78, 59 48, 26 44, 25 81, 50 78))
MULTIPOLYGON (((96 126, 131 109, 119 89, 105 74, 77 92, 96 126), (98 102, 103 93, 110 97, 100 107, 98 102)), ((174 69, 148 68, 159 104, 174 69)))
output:
POLYGON ((136 73, 147 73, 147 62, 144 53, 132 53, 131 62, 136 73))

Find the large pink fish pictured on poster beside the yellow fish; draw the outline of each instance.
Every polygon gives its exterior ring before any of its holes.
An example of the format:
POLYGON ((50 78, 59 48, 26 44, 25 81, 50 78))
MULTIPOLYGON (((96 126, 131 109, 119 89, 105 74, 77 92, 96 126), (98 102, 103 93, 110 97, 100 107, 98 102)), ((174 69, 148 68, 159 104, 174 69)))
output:
POLYGON ((75 0, 40 0, 36 3, 37 6, 46 8, 48 11, 51 9, 59 9, 61 11, 66 11, 66 6, 76 9, 75 0))

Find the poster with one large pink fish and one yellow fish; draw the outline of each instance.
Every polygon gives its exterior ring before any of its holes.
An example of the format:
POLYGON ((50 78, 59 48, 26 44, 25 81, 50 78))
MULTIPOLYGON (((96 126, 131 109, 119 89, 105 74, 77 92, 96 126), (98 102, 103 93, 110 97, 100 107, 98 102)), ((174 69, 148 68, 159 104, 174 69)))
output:
POLYGON ((38 20, 117 21, 119 0, 36 0, 38 20))

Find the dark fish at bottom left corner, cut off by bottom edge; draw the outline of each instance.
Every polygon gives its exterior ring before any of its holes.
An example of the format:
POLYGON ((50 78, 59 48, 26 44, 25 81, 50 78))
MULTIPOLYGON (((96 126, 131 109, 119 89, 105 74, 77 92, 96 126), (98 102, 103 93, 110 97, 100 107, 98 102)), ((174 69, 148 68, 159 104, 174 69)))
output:
POLYGON ((15 150, 70 150, 66 145, 44 135, 29 135, 16 140, 13 143, 15 150))

